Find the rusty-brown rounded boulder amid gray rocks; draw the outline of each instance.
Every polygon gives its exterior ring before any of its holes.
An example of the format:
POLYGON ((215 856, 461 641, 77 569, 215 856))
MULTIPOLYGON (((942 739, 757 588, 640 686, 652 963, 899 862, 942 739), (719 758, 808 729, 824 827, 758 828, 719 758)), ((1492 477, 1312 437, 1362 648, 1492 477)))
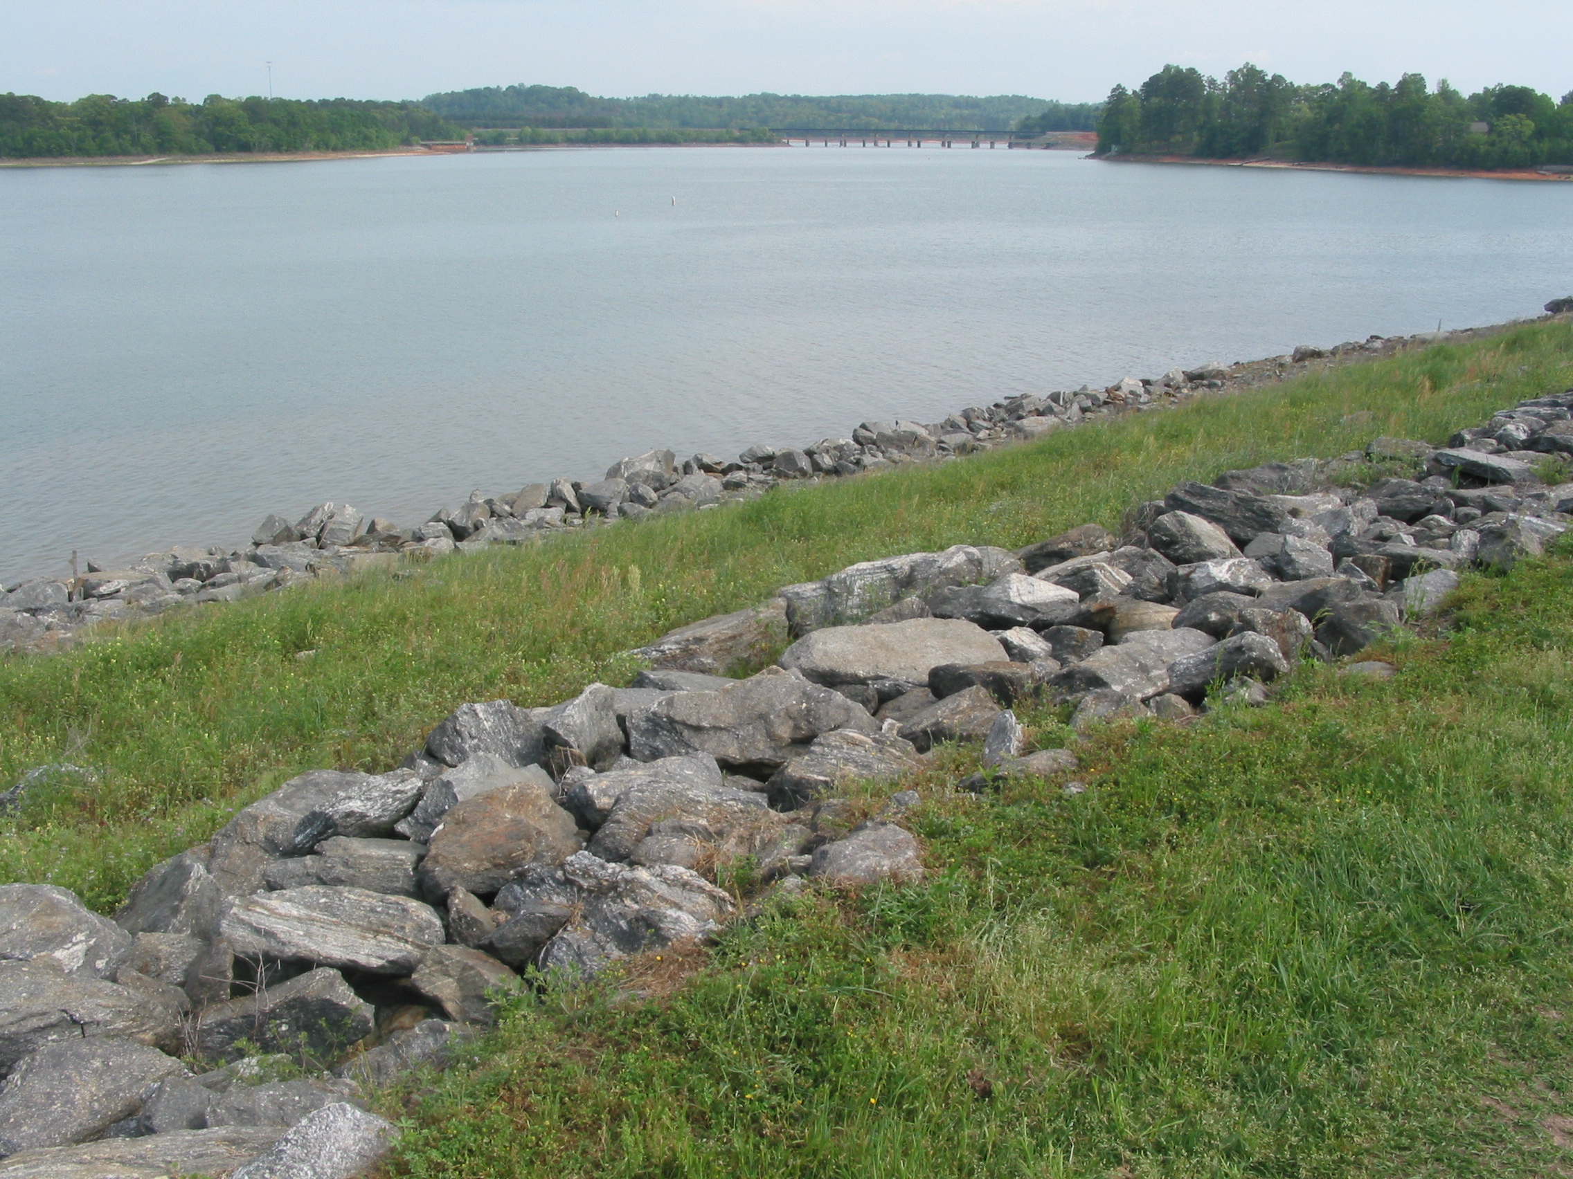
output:
POLYGON ((489 896, 532 863, 562 863, 580 849, 577 824, 535 783, 489 791, 442 816, 420 865, 434 901, 455 885, 489 896))

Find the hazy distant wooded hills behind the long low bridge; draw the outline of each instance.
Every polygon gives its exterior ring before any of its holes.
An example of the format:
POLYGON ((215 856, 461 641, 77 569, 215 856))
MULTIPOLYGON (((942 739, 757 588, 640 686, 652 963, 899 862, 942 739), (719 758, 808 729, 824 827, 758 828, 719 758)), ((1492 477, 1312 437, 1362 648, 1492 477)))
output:
POLYGON ((648 94, 609 99, 573 86, 484 86, 428 94, 425 105, 467 127, 873 127, 1093 130, 1098 104, 1021 94, 648 94), (1038 123, 1043 123, 1038 126, 1038 123))

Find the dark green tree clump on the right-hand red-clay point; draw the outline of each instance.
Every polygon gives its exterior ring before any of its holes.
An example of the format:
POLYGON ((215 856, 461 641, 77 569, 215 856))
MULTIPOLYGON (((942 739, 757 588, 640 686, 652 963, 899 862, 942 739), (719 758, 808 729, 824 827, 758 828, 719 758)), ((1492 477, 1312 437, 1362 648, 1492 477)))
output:
POLYGON ((1419 74, 1397 85, 1351 74, 1295 85, 1249 63, 1219 82, 1164 66, 1134 91, 1114 88, 1098 151, 1455 168, 1573 163, 1573 94, 1557 102, 1529 86, 1493 86, 1464 97, 1419 74))

